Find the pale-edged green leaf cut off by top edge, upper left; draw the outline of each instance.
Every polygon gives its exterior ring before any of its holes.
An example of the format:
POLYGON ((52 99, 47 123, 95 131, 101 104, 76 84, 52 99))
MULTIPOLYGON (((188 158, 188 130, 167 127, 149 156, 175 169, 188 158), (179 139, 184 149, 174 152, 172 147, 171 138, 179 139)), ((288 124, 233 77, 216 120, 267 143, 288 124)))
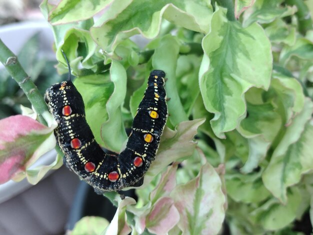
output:
POLYGON ((87 19, 104 9, 111 2, 112 0, 61 0, 49 12, 48 21, 53 25, 87 19))

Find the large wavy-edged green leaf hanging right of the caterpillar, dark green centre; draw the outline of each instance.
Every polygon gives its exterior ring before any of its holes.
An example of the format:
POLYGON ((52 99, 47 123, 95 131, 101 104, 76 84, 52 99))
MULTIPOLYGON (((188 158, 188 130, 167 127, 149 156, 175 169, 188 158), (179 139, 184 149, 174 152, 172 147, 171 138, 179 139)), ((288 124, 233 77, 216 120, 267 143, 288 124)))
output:
POLYGON ((212 129, 224 138, 223 132, 234 129, 244 117, 246 90, 268 88, 271 47, 258 24, 242 28, 238 22, 227 21, 223 8, 214 12, 211 25, 202 40, 199 84, 206 110, 214 113, 212 129))

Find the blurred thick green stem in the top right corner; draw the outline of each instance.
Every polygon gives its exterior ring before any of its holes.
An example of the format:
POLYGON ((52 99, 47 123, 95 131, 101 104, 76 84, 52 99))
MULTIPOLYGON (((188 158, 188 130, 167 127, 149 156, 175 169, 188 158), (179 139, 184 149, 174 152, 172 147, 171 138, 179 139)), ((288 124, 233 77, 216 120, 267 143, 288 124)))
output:
POLYGON ((303 0, 286 0, 285 2, 287 5, 295 5, 298 9, 295 15, 298 18, 298 29, 300 33, 305 35, 307 30, 313 29, 310 12, 303 0))

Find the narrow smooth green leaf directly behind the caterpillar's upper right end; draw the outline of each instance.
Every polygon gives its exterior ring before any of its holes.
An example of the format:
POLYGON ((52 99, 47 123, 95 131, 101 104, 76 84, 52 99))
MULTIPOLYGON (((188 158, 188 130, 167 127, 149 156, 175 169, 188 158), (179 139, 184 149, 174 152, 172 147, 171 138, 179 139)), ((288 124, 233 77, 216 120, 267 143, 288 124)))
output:
POLYGON ((161 38, 152 56, 153 68, 163 70, 166 78, 168 78, 165 84, 166 96, 170 98, 167 101, 168 119, 173 126, 188 119, 177 92, 175 79, 178 52, 179 44, 177 38, 166 35, 161 38))

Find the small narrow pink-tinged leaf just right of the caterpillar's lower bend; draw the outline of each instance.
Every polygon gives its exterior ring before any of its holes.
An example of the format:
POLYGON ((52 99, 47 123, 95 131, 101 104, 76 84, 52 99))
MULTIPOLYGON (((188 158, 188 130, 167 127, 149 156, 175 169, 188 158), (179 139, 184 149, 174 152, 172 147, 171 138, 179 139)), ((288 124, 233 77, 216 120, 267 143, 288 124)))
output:
POLYGON ((169 195, 176 186, 176 170, 177 164, 171 164, 167 167, 167 171, 162 173, 160 181, 150 193, 152 203, 162 196, 169 195))

